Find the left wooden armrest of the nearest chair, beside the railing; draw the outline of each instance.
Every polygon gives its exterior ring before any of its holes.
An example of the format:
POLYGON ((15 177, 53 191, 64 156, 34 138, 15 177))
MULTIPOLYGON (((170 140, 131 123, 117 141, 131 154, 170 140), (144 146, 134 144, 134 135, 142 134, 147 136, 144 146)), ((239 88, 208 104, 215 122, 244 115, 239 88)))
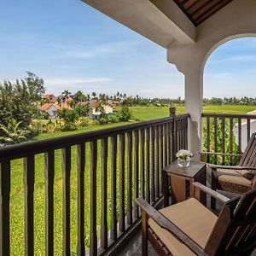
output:
POLYGON ((193 241, 188 235, 183 233, 183 230, 180 230, 175 224, 173 224, 168 218, 163 214, 158 212, 151 207, 147 201, 144 201, 143 198, 139 197, 135 199, 137 205, 142 208, 144 212, 148 215, 149 218, 153 218, 154 221, 160 225, 161 228, 172 233, 173 236, 176 236, 177 239, 183 244, 185 244, 189 249, 191 249, 197 255, 205 256, 207 253, 204 252, 203 248, 200 247, 195 241, 193 241))

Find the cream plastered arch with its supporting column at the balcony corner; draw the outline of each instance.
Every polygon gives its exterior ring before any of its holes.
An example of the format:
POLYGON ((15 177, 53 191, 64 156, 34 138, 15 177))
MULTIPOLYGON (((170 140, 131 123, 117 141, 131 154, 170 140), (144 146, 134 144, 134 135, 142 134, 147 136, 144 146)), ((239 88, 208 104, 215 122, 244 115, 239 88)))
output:
POLYGON ((235 38, 256 36, 256 1, 233 0, 196 29, 195 44, 175 41, 167 48, 167 60, 185 76, 185 109, 190 114, 189 149, 202 149, 203 73, 214 49, 235 38))

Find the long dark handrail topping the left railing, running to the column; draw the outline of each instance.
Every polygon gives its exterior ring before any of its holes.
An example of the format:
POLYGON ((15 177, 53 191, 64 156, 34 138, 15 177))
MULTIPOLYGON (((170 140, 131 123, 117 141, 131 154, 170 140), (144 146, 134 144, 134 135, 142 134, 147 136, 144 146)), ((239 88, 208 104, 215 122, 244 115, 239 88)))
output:
MULTIPOLYGON (((184 118, 189 118, 189 113, 184 113, 176 116, 177 120, 184 118)), ((77 145, 80 143, 91 142, 94 140, 102 139, 104 137, 112 137, 129 131, 137 131, 143 128, 148 128, 149 126, 165 124, 167 122, 170 122, 170 120, 172 121, 173 119, 173 117, 153 119, 131 125, 121 125, 108 129, 81 132, 78 134, 49 138, 36 142, 9 145, 0 148, 0 161, 15 160, 18 158, 26 157, 30 154, 41 154, 48 152, 49 150, 55 150, 65 148, 67 146, 77 145)))

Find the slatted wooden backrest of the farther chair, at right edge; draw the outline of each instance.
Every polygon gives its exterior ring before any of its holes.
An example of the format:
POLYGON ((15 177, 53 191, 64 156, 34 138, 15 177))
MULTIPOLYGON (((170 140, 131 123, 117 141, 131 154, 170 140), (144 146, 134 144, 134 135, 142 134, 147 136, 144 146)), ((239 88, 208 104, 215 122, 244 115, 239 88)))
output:
POLYGON ((239 166, 256 166, 256 132, 254 132, 247 143, 247 147, 241 156, 239 166))

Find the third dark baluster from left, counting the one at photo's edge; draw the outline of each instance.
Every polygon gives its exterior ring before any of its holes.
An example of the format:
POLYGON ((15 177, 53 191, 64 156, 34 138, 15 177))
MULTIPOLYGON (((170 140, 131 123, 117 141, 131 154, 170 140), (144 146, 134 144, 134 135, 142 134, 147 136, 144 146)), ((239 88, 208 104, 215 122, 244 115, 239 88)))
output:
POLYGON ((54 254, 54 177, 55 152, 50 150, 44 154, 45 185, 45 254, 54 254))

